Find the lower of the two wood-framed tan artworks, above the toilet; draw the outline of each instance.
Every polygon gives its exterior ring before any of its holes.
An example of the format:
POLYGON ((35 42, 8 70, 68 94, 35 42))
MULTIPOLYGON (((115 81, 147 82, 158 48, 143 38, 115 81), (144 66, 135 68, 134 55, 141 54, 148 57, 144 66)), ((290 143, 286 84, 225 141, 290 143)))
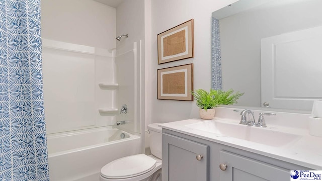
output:
POLYGON ((157 99, 193 101, 193 64, 157 70, 157 99))

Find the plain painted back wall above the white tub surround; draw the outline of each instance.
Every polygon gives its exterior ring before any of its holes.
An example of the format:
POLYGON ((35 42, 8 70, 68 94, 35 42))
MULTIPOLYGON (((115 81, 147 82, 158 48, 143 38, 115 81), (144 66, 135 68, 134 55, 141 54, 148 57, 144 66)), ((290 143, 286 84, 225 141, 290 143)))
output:
POLYGON ((115 48, 115 8, 93 0, 41 1, 42 38, 115 48))

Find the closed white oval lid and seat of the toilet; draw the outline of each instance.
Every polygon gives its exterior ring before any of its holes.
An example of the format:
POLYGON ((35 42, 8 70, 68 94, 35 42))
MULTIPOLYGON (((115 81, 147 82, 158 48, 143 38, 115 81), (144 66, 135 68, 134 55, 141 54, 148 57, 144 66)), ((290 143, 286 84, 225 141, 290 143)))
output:
POLYGON ((101 175, 106 178, 129 178, 149 172, 155 167, 156 160, 137 154, 114 160, 101 169, 101 175))

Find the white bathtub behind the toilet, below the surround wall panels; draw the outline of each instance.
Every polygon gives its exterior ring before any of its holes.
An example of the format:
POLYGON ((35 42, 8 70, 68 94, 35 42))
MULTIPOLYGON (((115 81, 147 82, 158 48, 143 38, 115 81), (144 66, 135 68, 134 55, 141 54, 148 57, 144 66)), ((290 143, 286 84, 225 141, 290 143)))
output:
POLYGON ((110 161, 141 153, 140 136, 104 127, 47 135, 51 181, 96 181, 110 161))

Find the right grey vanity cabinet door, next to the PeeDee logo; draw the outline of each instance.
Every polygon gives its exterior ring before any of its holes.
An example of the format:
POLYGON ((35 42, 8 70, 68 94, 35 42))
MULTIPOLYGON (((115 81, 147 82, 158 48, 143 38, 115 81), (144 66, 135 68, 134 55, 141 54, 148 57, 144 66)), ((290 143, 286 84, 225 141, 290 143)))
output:
MULTIPOLYGON (((289 180, 290 170, 245 156, 220 151, 220 164, 226 164, 225 171, 220 170, 220 181, 262 181, 289 180)), ((219 165, 218 165, 219 166, 219 165)), ((220 169, 219 167, 217 167, 220 169)))

